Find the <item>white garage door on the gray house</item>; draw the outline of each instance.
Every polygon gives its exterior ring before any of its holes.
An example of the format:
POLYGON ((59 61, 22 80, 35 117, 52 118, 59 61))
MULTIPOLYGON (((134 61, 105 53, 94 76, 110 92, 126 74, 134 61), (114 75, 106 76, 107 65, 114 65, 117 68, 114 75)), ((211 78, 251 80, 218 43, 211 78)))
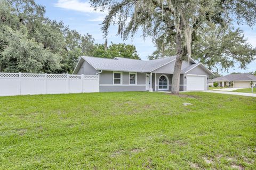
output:
POLYGON ((206 76, 187 75, 187 91, 206 90, 206 76))

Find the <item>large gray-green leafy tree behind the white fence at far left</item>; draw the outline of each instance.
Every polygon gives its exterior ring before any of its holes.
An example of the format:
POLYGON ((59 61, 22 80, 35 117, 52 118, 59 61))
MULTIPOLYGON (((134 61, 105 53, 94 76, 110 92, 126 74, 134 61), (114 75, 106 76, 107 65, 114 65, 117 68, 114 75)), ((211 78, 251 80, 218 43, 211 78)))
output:
POLYGON ((44 19, 44 7, 32 0, 2 0, 0 6, 0 71, 55 72, 60 67, 58 44, 63 38, 59 32, 54 35, 57 31, 44 19))

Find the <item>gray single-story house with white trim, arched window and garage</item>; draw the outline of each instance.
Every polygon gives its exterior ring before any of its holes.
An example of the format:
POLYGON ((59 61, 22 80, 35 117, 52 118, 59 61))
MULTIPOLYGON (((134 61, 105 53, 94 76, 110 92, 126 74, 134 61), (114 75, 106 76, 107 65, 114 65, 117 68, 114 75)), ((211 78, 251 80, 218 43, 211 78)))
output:
MULTIPOLYGON (((164 91, 171 90, 176 56, 157 60, 133 60, 115 57, 82 56, 73 74, 99 74, 100 91, 164 91)), ((207 79, 213 73, 202 63, 183 61, 180 91, 207 90, 207 79)))

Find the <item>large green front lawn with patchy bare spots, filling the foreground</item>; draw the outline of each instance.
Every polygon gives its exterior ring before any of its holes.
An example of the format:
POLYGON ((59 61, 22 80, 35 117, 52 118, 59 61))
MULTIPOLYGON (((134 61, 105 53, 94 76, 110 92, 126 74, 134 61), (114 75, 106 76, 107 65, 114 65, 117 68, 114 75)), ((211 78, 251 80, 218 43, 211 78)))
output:
POLYGON ((0 108, 0 169, 256 168, 254 97, 106 92, 0 108))

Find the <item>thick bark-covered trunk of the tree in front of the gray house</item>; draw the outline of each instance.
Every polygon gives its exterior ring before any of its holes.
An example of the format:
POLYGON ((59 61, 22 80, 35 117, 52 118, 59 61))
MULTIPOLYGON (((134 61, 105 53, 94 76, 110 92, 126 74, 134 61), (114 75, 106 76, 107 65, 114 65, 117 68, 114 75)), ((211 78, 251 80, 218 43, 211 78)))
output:
MULTIPOLYGON (((182 20, 180 20, 180 30, 182 29, 183 29, 183 22, 182 20)), ((172 75, 172 94, 179 94, 181 65, 182 65, 182 59, 184 58, 183 55, 185 55, 181 32, 177 31, 175 41, 176 41, 176 48, 177 48, 177 57, 176 57, 174 71, 172 75)))

